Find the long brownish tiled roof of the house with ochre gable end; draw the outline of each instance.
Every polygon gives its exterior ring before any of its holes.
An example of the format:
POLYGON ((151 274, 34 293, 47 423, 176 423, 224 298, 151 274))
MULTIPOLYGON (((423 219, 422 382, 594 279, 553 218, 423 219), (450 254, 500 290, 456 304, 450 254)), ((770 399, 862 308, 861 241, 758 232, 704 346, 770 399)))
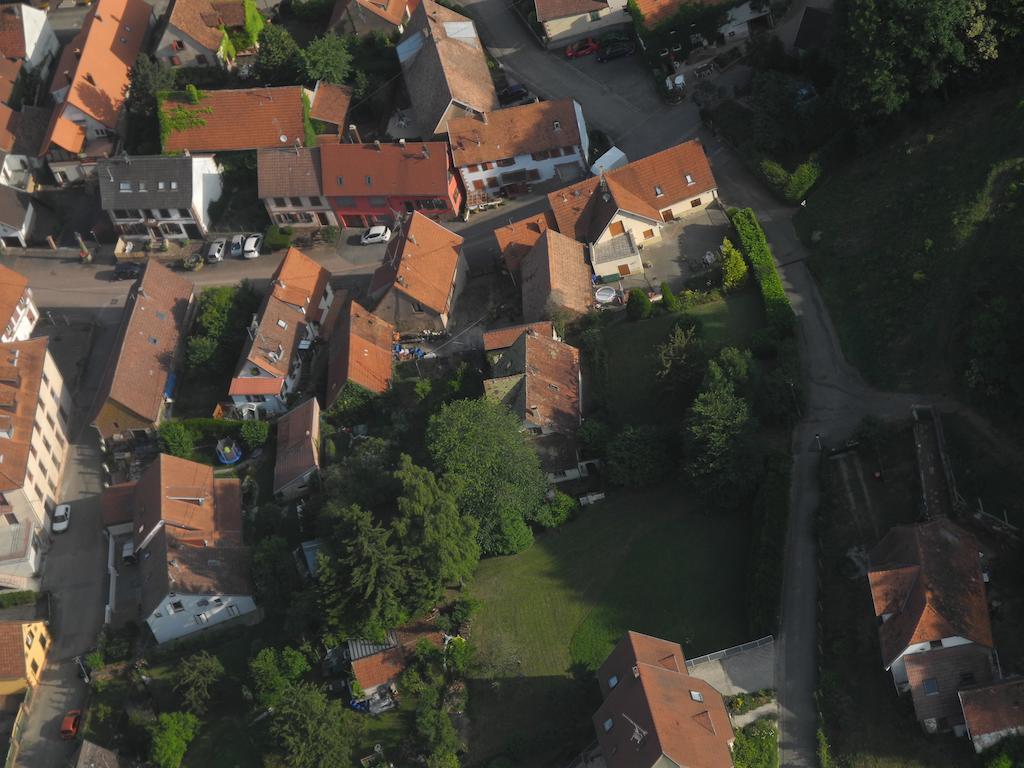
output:
POLYGON ((96 396, 98 412, 114 400, 156 424, 167 379, 187 333, 193 284, 155 260, 128 295, 117 341, 96 396))

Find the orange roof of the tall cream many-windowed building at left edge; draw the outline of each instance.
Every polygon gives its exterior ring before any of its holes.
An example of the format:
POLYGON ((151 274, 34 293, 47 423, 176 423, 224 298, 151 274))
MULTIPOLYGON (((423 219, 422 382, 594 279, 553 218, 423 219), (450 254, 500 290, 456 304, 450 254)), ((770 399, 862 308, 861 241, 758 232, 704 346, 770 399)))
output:
POLYGON ((27 484, 45 361, 45 337, 0 344, 0 430, 10 434, 0 437, 0 492, 27 484))

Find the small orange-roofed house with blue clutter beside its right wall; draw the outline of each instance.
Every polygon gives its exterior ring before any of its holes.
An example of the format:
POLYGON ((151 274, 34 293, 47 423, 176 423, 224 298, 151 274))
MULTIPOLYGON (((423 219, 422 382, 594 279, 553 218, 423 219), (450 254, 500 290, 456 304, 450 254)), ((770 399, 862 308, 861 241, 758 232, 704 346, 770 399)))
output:
POLYGON ((388 390, 394 339, 394 326, 357 302, 349 302, 338 314, 331 334, 326 400, 329 409, 349 382, 375 394, 388 390))

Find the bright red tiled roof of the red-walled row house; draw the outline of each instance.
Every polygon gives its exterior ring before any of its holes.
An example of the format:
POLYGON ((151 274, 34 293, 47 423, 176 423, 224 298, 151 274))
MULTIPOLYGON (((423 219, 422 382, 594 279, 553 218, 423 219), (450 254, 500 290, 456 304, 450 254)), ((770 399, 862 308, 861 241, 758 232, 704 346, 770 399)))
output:
POLYGON ((441 141, 321 147, 324 194, 332 197, 401 195, 446 200, 450 168, 447 144, 441 141))

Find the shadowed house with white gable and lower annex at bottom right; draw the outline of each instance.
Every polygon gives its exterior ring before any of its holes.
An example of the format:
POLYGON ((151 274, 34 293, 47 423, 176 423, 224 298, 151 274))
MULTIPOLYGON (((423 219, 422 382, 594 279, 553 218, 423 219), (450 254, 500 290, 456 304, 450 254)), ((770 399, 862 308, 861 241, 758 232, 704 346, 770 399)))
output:
POLYGON ((992 680, 978 542, 946 518, 892 528, 869 555, 882 662, 929 733, 966 733, 957 692, 992 680))

